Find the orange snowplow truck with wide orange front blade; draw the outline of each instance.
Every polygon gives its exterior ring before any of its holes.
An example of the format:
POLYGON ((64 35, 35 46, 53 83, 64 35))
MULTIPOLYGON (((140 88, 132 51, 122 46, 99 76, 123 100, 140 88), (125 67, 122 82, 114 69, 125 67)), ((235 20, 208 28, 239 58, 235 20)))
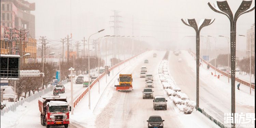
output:
POLYGON ((119 85, 115 85, 117 91, 132 91, 132 75, 131 74, 119 74, 117 79, 119 85))

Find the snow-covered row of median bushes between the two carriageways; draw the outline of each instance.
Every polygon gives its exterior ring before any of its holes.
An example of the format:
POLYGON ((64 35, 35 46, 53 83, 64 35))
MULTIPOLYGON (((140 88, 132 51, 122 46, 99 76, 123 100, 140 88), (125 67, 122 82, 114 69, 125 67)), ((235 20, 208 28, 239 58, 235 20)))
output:
POLYGON ((196 103, 194 101, 190 101, 188 96, 181 92, 180 87, 175 85, 174 81, 169 76, 167 62, 167 60, 162 60, 159 65, 159 80, 174 105, 184 114, 191 114, 196 103))

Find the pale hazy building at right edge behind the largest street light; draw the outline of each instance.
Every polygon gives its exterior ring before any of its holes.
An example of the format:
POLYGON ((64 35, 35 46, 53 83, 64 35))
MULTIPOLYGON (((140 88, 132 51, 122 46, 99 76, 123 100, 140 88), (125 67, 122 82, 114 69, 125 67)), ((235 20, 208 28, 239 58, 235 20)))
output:
MULTIPOLYGON (((246 51, 252 51, 252 57, 255 56, 255 23, 247 30, 246 33, 246 51)), ((250 52, 247 52, 248 57, 250 57, 250 52)))

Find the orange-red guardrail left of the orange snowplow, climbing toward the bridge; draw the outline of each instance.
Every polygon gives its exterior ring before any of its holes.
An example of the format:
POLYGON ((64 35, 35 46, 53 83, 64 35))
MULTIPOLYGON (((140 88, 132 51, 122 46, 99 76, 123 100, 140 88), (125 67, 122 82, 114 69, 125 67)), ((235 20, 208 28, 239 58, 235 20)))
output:
MULTIPOLYGON (((141 53, 143 53, 143 52, 141 52, 141 53)), ((133 59, 133 58, 135 58, 135 57, 137 57, 138 55, 140 55, 141 53, 139 53, 139 54, 137 54, 137 55, 135 55, 135 56, 133 56, 133 57, 130 57, 130 58, 128 58, 128 59, 126 59, 126 60, 124 60, 124 61, 122 61, 122 62, 120 62, 120 63, 118 63, 118 64, 116 64, 116 65, 114 65, 114 66, 112 66, 112 67, 110 67, 109 68, 109 71, 111 71, 111 70, 113 70, 114 68, 116 68, 116 67, 118 67, 119 65, 122 65, 123 63, 125 63, 125 62, 127 62, 127 61, 129 61, 129 60, 131 60, 131 59, 133 59)), ((90 84, 90 89, 102 78, 102 77, 104 77, 106 75, 106 73, 104 72, 104 73, 102 73, 99 77, 97 77, 91 84, 90 84)), ((74 102, 73 102, 73 107, 75 108, 76 106, 77 106, 77 104, 84 98, 84 96, 87 94, 87 92, 89 91, 89 87, 87 87, 87 89, 84 91, 84 92, 82 92, 75 100, 74 100, 74 102)))

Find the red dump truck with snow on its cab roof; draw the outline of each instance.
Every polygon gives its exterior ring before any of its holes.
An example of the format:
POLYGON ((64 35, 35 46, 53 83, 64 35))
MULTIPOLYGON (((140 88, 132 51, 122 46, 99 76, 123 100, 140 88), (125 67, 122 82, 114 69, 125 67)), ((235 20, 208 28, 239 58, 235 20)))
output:
POLYGON ((68 105, 67 98, 40 97, 38 106, 41 112, 41 125, 46 128, 64 125, 65 128, 68 128, 71 106, 68 105))

